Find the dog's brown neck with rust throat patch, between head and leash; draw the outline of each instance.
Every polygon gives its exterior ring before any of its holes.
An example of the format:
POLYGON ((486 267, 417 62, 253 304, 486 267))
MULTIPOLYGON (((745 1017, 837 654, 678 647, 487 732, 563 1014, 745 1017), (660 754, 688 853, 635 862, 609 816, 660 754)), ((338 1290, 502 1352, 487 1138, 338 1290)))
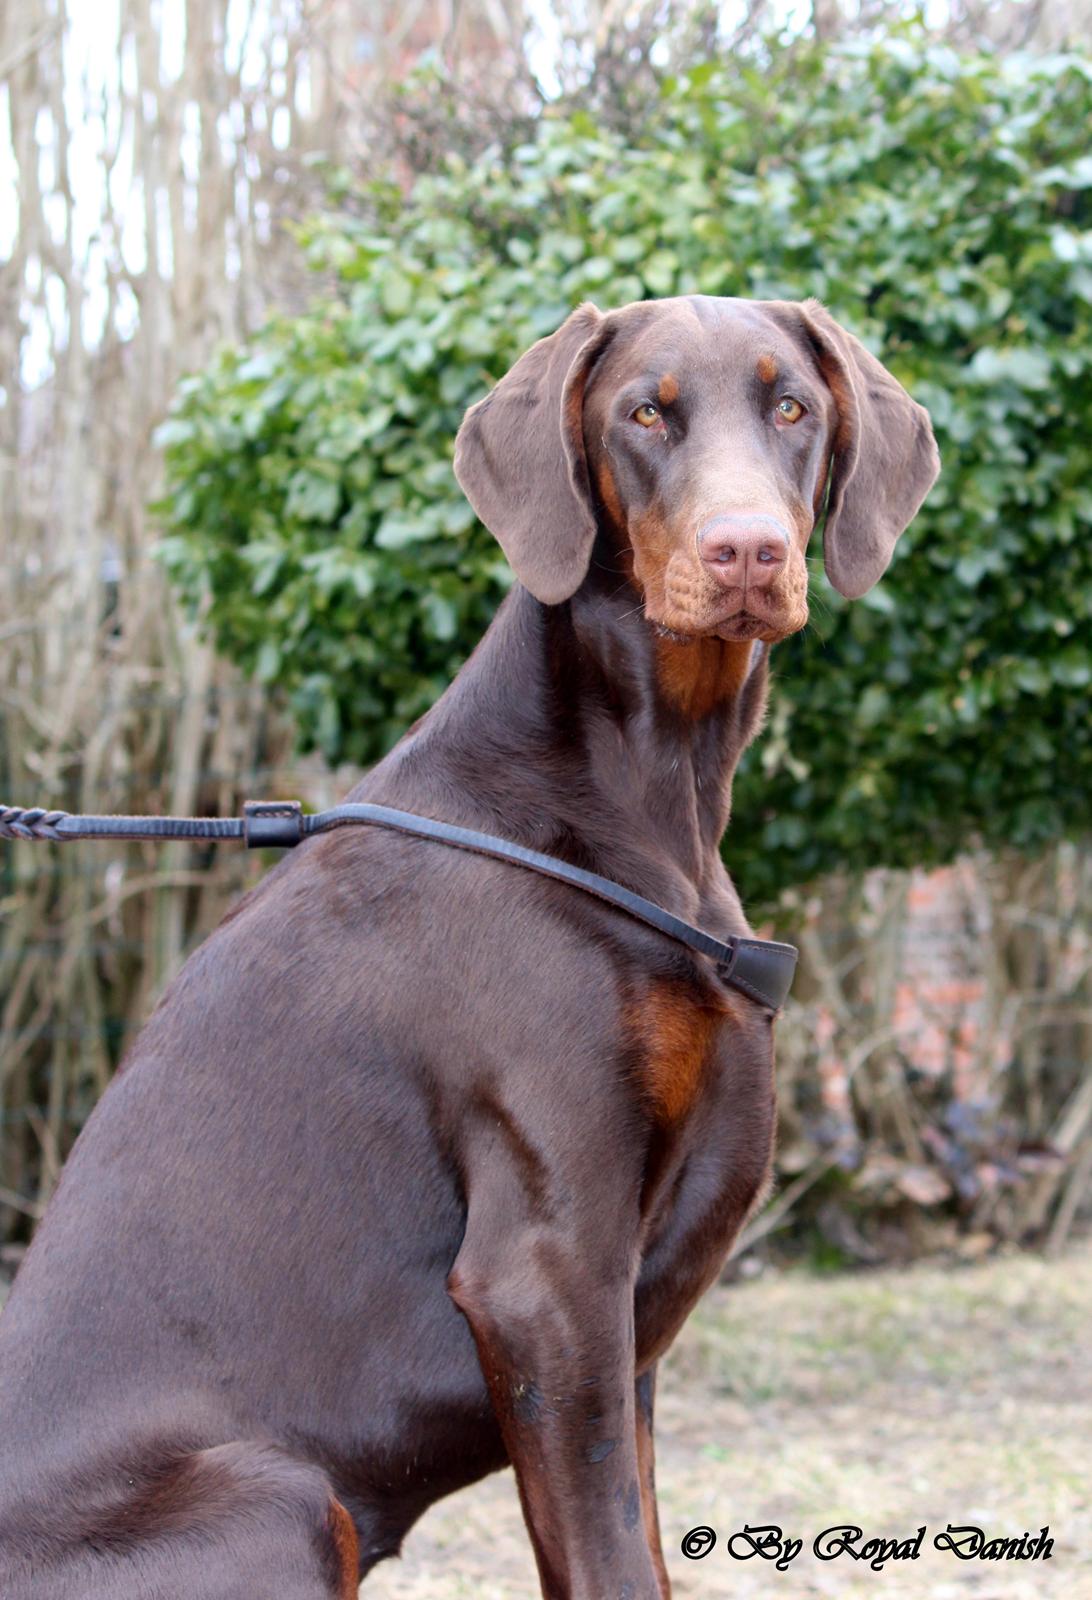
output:
POLYGON ((596 570, 559 606, 516 586, 362 794, 628 882, 658 862, 701 893, 765 678, 764 646, 661 638, 596 570))

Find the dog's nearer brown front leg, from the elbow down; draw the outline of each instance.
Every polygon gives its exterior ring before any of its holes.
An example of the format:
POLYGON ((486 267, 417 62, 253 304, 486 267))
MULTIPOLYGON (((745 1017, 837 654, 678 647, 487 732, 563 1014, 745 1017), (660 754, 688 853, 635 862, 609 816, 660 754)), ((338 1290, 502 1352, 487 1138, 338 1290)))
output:
POLYGON ((471 1205, 450 1293, 474 1331, 548 1600, 661 1600, 642 1515, 634 1251, 471 1205))

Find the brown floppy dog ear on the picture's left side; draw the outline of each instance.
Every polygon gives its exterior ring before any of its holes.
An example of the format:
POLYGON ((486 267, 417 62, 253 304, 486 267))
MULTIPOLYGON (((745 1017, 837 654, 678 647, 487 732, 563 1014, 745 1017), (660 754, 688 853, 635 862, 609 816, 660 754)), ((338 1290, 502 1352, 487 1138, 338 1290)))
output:
POLYGON ((580 306, 463 418, 455 477, 519 581, 557 605, 580 589, 596 539, 584 384, 607 318, 580 306))

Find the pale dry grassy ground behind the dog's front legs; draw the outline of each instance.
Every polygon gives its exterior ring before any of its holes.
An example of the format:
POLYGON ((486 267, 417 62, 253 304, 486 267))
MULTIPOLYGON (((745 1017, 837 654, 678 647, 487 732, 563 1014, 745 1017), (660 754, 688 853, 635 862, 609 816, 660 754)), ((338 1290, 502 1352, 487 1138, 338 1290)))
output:
MULTIPOLYGON (((783 1274, 706 1298, 661 1376, 658 1475, 668 1568, 690 1600, 1092 1600, 1092 1245, 1042 1262, 866 1277, 783 1274), (804 1549, 785 1570, 733 1560, 745 1523, 804 1549), (836 1523, 921 1557, 876 1573, 821 1563, 836 1523), (1049 1523, 1047 1562, 961 1562, 948 1523, 1018 1538, 1049 1523), (698 1525, 719 1541, 680 1554, 698 1525)), ((367 1600, 538 1600, 509 1472, 429 1512, 367 1600)))

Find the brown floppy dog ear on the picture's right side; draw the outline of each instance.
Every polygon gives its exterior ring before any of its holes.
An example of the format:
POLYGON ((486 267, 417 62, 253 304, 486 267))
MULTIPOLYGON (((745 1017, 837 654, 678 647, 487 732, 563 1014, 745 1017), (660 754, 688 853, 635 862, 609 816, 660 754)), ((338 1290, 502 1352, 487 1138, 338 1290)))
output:
POLYGON ((929 413, 909 398, 818 301, 804 301, 807 336, 837 405, 823 560, 839 594, 857 600, 887 571, 900 533, 937 482, 929 413))

